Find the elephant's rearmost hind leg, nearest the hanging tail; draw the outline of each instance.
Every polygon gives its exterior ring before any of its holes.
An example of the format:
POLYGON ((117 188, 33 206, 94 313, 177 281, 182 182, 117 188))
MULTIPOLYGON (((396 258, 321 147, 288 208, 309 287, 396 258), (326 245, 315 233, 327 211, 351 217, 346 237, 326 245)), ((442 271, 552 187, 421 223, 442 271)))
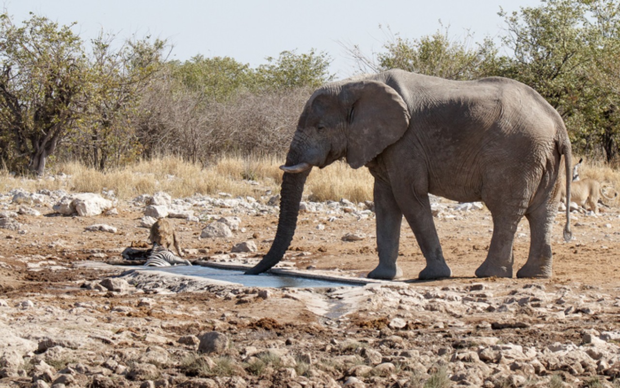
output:
POLYGON ((528 261, 516 273, 517 277, 551 277, 551 227, 555 216, 555 204, 552 203, 526 214, 530 233, 529 255, 528 261))

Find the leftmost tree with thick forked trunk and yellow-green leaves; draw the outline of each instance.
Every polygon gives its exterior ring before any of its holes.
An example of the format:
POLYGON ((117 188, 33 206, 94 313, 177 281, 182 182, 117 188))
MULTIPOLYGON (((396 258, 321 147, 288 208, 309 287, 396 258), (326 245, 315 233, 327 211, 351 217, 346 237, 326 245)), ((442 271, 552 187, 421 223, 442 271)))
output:
POLYGON ((0 15, 0 159, 21 173, 44 173, 84 104, 87 61, 71 27, 0 15))

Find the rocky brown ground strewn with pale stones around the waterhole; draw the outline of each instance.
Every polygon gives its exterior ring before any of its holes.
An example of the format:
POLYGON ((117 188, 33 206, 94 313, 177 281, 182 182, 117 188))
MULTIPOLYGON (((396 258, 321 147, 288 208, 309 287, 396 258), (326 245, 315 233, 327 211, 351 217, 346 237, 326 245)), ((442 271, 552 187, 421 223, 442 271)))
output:
MULTIPOLYGON (((435 199, 451 279, 415 280, 423 258, 404 223, 403 281, 277 289, 119 265, 126 247, 147 246, 145 216, 162 212, 190 261, 255 263, 277 224, 265 192, 112 197, 91 216, 61 215, 75 211, 58 206, 63 194, 0 194, 0 386, 620 385, 618 209, 573 213, 569 243, 558 215, 552 279, 474 277, 489 212, 435 199)), ((371 204, 303 209, 283 266, 364 279, 377 260, 371 204)), ((524 220, 515 269, 528 244, 524 220)))

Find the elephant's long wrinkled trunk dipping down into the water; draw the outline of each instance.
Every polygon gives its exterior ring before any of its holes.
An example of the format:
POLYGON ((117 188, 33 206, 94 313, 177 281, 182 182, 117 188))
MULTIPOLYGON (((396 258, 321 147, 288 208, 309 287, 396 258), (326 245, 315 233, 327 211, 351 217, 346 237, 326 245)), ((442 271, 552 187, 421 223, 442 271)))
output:
MULTIPOLYGON (((291 165, 291 163, 286 164, 291 165)), ((284 173, 280 190, 280 218, 272 246, 260 263, 248 269, 246 274, 254 275, 267 271, 275 266, 288 250, 297 225, 299 202, 304 191, 304 183, 306 183, 310 171, 311 168, 299 173, 284 173)))

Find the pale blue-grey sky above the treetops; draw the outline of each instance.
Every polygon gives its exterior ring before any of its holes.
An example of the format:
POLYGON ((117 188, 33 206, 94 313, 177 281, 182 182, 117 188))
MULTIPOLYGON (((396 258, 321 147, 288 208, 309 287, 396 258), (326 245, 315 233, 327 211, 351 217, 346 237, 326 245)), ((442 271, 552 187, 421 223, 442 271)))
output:
POLYGON ((256 67, 285 50, 301 54, 314 48, 332 58, 337 79, 357 70, 343 46, 357 45, 374 57, 394 34, 414 40, 434 34, 441 25, 449 27, 449 38, 457 42, 463 42, 469 30, 473 45, 487 36, 505 34, 506 25, 497 15, 500 6, 512 12, 541 4, 540 0, 0 1, 15 24, 33 12, 60 25, 77 22, 74 32, 85 42, 101 30, 116 34, 118 42, 151 35, 171 43, 171 58, 180 61, 198 54, 230 56, 256 67))

